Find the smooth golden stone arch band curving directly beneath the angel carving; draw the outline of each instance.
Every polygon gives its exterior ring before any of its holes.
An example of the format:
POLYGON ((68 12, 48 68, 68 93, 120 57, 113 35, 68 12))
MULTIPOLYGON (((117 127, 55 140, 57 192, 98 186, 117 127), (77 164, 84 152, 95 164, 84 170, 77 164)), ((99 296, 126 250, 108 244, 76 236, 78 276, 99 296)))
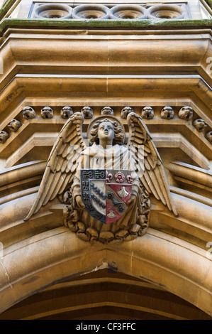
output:
POLYGON ((210 315, 210 264, 199 247, 152 228, 133 242, 97 245, 57 227, 6 249, 1 312, 64 279, 113 268, 157 284, 210 315))

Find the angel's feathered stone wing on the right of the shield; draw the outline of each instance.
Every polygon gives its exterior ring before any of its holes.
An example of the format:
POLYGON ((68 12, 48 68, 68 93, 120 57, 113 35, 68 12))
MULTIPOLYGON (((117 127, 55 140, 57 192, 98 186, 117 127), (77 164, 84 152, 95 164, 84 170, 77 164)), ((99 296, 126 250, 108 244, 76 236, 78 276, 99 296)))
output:
POLYGON ((143 183, 148 193, 155 195, 157 200, 161 200, 170 211, 174 212, 174 215, 177 215, 160 155, 147 126, 143 119, 134 112, 130 112, 127 119, 129 126, 128 147, 130 149, 130 146, 133 146, 135 150, 135 166, 140 182, 143 183), (143 155, 142 159, 140 159, 140 154, 143 155))

